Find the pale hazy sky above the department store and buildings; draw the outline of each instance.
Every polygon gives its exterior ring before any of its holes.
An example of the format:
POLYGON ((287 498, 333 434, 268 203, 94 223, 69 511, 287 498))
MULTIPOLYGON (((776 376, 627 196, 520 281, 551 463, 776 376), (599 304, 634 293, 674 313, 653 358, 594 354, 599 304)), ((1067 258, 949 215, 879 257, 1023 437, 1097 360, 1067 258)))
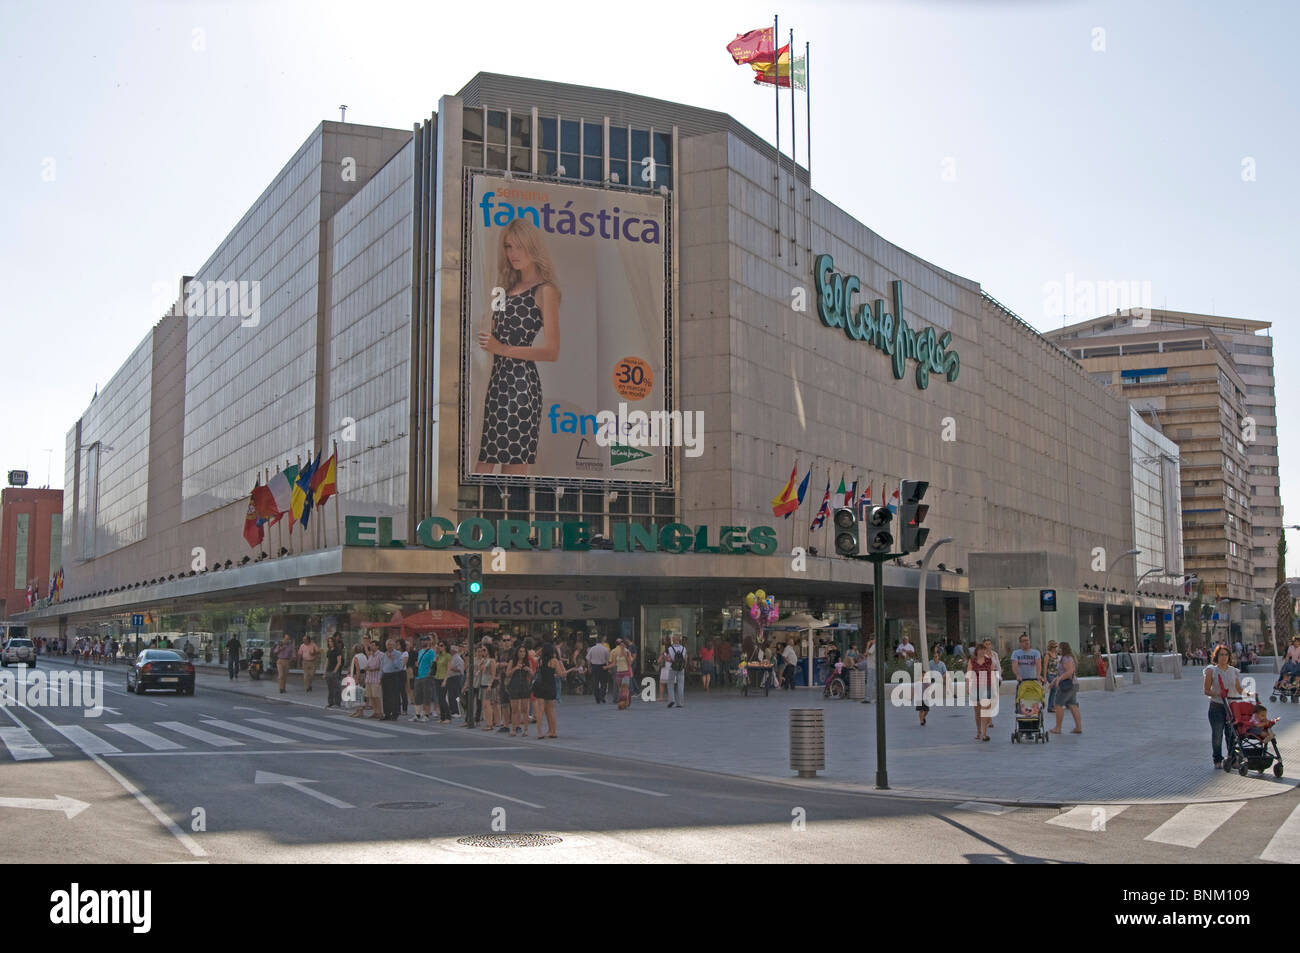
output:
POLYGON ((488 70, 718 109, 771 140, 772 94, 725 44, 774 14, 811 43, 814 187, 889 242, 1040 330, 1096 316, 1060 313, 1066 282, 1271 321, 1296 498, 1287 0, 0 0, 0 471, 62 486, 66 433, 161 317, 159 286, 195 273, 341 104, 410 129, 488 70))

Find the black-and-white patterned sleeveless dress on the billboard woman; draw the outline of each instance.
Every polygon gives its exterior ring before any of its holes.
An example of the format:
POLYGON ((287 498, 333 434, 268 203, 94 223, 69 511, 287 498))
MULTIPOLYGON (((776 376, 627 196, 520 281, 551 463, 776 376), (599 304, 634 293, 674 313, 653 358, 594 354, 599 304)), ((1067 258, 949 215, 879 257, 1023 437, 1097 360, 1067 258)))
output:
MULTIPOLYGON (((542 329, 542 308, 534 298, 541 285, 508 295, 493 312, 491 335, 510 347, 529 347, 542 329)), ((537 364, 493 355, 478 463, 537 463, 537 432, 542 420, 542 378, 537 364)))

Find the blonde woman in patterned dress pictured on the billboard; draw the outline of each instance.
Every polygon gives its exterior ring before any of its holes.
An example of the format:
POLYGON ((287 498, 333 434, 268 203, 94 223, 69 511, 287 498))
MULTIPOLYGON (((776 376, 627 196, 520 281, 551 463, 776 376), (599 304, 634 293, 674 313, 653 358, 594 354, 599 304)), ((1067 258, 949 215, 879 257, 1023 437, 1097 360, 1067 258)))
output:
POLYGON ((506 290, 491 330, 478 332, 478 346, 493 355, 484 399, 476 473, 526 475, 537 463, 542 423, 542 378, 537 361, 560 355, 560 291, 542 233, 526 218, 500 231, 497 285, 506 290), (542 343, 534 345, 541 332, 542 343))

